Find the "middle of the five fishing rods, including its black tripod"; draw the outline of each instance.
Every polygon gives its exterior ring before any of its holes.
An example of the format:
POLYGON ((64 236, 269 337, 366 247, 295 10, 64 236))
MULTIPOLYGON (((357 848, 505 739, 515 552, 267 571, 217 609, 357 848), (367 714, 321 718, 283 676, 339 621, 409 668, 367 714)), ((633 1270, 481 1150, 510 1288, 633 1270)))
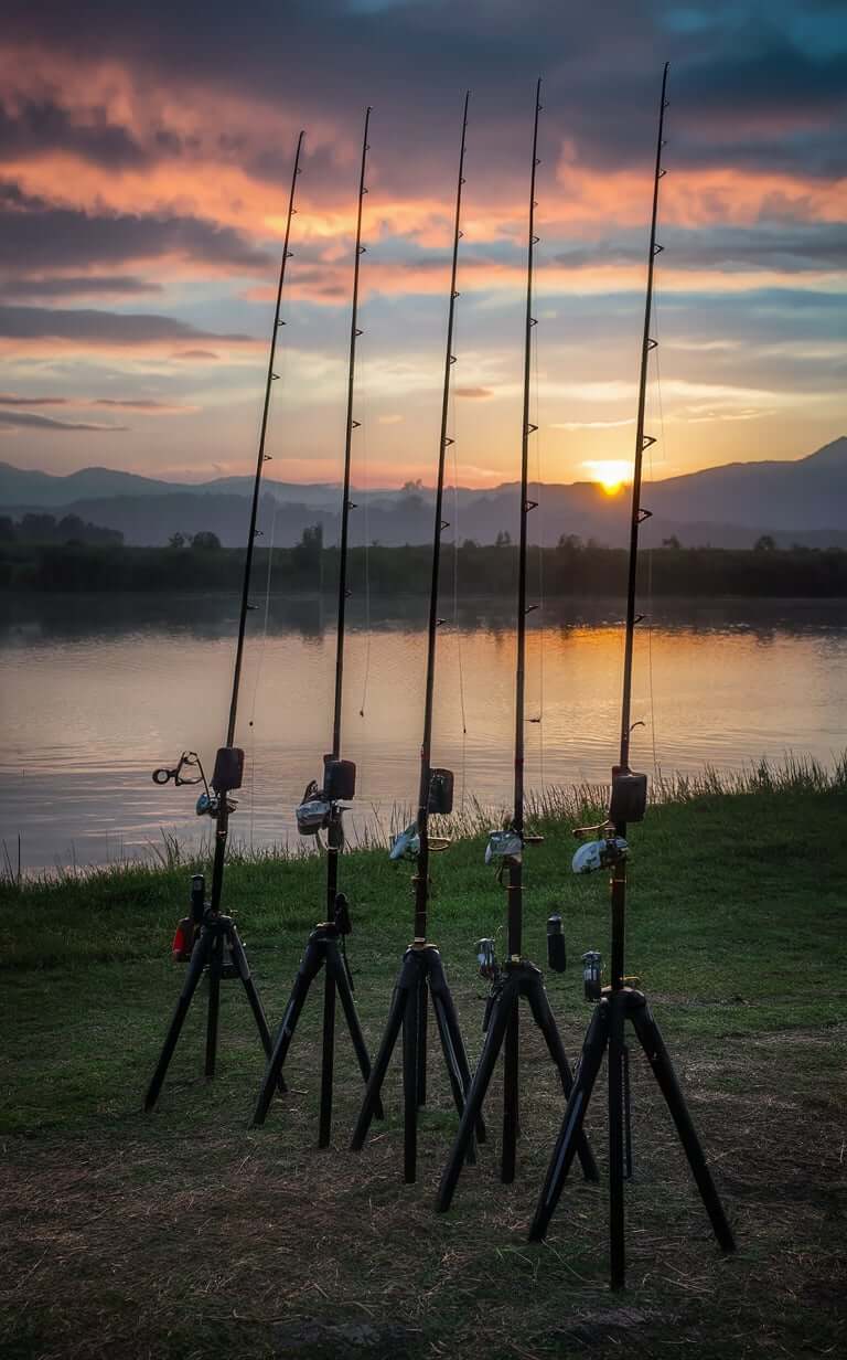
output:
MULTIPOLYGON (((468 103, 470 92, 465 94, 462 112, 462 135, 460 141, 458 177, 455 185, 455 211, 453 216, 453 256, 450 267, 450 294, 447 303, 447 337, 445 347, 445 373, 442 385, 440 434, 438 442, 438 476, 435 484, 435 520, 432 532, 432 575, 430 582, 430 616, 427 626, 427 670, 424 687, 424 724, 420 745, 420 783, 417 796, 417 817, 396 839, 392 860, 416 860, 412 885, 415 889, 415 933, 412 944, 402 956, 400 972, 394 983, 389 1017, 382 1042, 374 1062, 374 1070, 364 1092, 362 1111, 353 1130, 351 1148, 359 1152, 364 1145, 371 1119, 379 1111, 379 1092, 402 1030, 402 1092, 404 1092, 404 1180, 412 1183, 417 1175, 417 1110, 427 1099, 427 1019, 428 1001, 442 1044, 447 1077, 455 1107, 461 1114, 470 1087, 470 1068, 465 1044, 458 1027, 455 1005, 447 986, 440 953, 427 940, 427 917, 430 902, 430 855, 446 850, 449 840, 430 835, 430 816, 446 815, 453 811, 453 771, 432 767, 432 703, 435 694, 435 657, 439 624, 438 592, 442 534, 449 528, 443 518, 445 460, 453 439, 447 435, 450 411, 450 375, 455 355, 453 354, 453 329, 455 299, 460 296, 455 283, 458 271, 458 243, 462 238, 462 186, 465 184, 465 136, 468 131, 468 103)), ((474 1121, 476 1137, 485 1137, 481 1118, 474 1121)), ((470 1149, 473 1157, 473 1149, 470 1149)))

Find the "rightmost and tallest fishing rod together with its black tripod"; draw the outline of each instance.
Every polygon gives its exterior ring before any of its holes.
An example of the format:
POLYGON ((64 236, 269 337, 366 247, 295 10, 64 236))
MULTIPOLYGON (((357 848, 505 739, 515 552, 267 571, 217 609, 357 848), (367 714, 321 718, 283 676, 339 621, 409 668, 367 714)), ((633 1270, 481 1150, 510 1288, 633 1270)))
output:
POLYGON ((655 169, 653 175, 653 211, 650 218, 650 245, 647 250, 647 288, 644 299, 644 325, 640 348, 638 418, 635 428, 635 461, 632 475, 632 499, 629 513, 629 563, 627 575, 627 619, 624 630, 624 675, 621 698, 621 728, 619 763, 612 770, 612 796, 608 817, 597 827, 582 827, 575 831, 578 838, 600 832, 601 839, 581 845, 574 855, 574 870, 587 873, 591 869, 608 868, 612 900, 612 967, 609 986, 601 985, 602 959, 593 949, 583 955, 586 998, 595 1002, 589 1024, 582 1059, 574 1088, 570 1093, 561 1130, 536 1208, 530 1227, 530 1240, 538 1242, 547 1229, 559 1202, 564 1180, 574 1159, 575 1142, 582 1133, 585 1112, 591 1098, 604 1053, 608 1049, 609 1076, 609 1240, 610 1240, 610 1282, 613 1289, 625 1285, 625 1239, 624 1239, 624 1180, 631 1175, 629 1138, 629 1064, 625 1044, 625 1023, 629 1021, 642 1044, 653 1074, 673 1117, 677 1136, 688 1159, 691 1172, 708 1213, 715 1238, 723 1251, 736 1247, 731 1228, 723 1213, 706 1155, 685 1106, 682 1091, 677 1081, 673 1064, 659 1028, 650 1013, 643 991, 631 986, 624 975, 625 949, 625 908, 627 908, 627 826, 642 821, 647 809, 647 775, 629 768, 629 738, 635 724, 631 721, 632 706, 632 658, 635 649, 635 628, 640 620, 636 613, 636 574, 639 554, 639 529, 650 517, 640 505, 642 466, 644 452, 655 443, 653 435, 644 434, 646 393, 649 359, 658 341, 650 335, 653 318, 654 267, 662 246, 657 242, 659 184, 665 177, 662 148, 665 147, 665 110, 668 109, 668 63, 662 75, 659 99, 658 135, 655 147, 655 169))

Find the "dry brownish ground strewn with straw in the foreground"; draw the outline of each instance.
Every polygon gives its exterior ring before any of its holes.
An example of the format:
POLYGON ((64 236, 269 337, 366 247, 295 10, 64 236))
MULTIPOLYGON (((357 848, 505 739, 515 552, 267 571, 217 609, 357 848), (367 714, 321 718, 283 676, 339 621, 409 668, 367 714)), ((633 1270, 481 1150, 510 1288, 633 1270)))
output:
MULTIPOLYGON (((356 1156, 349 1077, 321 1153, 305 1049, 262 1130, 245 1132, 243 1083, 212 1089, 192 1076, 171 1081, 152 1119, 133 1110, 106 1132, 5 1140, 4 1360, 847 1353, 847 1027, 710 1046, 666 1038, 737 1234, 733 1257, 716 1250, 636 1055, 628 1289, 613 1295, 604 1182, 574 1175, 548 1243, 526 1243, 561 1117, 534 1036, 515 1185, 496 1176, 492 1088, 491 1140, 443 1216, 432 1201, 453 1117, 438 1081, 420 1180, 404 1186, 396 1087, 386 1126, 356 1156)), ((601 1170, 604 1107, 598 1085, 589 1125, 601 1170)))

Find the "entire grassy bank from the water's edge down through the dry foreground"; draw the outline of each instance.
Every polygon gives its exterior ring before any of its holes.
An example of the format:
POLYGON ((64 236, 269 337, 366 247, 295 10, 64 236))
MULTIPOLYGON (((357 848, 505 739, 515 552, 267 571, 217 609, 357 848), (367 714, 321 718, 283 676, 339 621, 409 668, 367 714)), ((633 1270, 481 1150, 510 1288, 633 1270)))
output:
MULTIPOLYGON (((526 1243, 561 1095, 523 1028, 523 1138, 514 1186, 491 1142, 453 1212, 432 1213, 454 1117, 431 1055, 420 1178, 400 1179, 398 1073, 387 1118, 347 1152, 359 1100, 339 1032, 333 1148, 314 1149, 319 991, 292 1047, 287 1096, 247 1130, 262 1062, 237 983, 224 987, 219 1077, 201 1078, 194 1006, 160 1107, 140 1102, 182 974, 167 957, 186 868, 124 868, 0 896, 4 1043, 0 1278, 4 1357, 813 1356, 844 1344, 843 970, 847 786, 760 778, 676 787, 634 830, 628 967, 640 974, 738 1235, 723 1259, 646 1064, 634 1054, 636 1179, 629 1292, 606 1289, 605 1187, 575 1178, 544 1247, 526 1243)), ((574 879, 561 809, 528 851, 526 948, 556 906, 572 960, 604 948, 602 876, 574 879)), ((576 812, 578 809, 572 809, 576 812)), ((503 936, 503 892, 460 840, 434 865, 439 942, 472 1058, 484 985, 474 941, 503 936)), ((408 942, 409 866, 345 858, 351 959, 375 1044, 408 942)), ((321 862, 234 862, 238 917, 279 1019, 319 914, 321 862)), ((589 1010, 578 963, 548 990, 576 1055, 589 1010)), ((598 1092, 589 1129, 606 1164, 598 1092)))

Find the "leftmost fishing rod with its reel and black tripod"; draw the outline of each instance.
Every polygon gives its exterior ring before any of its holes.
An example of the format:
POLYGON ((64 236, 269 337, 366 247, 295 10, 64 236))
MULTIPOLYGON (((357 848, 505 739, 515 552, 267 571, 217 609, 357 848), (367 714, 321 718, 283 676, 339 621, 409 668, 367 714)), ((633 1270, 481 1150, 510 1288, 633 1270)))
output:
POLYGON ((232 917, 224 915, 220 910, 220 900, 223 895, 223 876, 226 865, 226 850, 227 839, 230 831, 230 813, 235 811, 237 802, 230 796, 241 789, 243 779, 243 764, 245 753, 241 747, 234 745, 235 741, 235 726, 238 721, 238 699, 241 691, 241 670, 245 650, 245 636, 247 630, 247 612, 250 608, 249 594, 250 594, 250 574, 253 568, 253 548, 256 539, 260 534, 257 529, 258 517, 258 499, 261 490, 261 480, 265 462, 271 461, 271 454, 265 452, 265 442, 268 434, 268 418, 271 412, 271 392, 273 384, 277 381, 279 374, 275 373, 276 360, 276 345, 277 337, 281 326, 286 324, 280 320, 280 310, 283 302, 283 287, 286 283, 286 269, 288 260, 292 256, 290 250, 291 239, 291 222, 296 212, 294 207, 296 180, 300 174, 300 155, 303 150, 305 133, 300 132, 296 141, 296 151, 294 155, 294 167, 291 171, 291 190, 288 194, 288 212, 286 215, 286 235, 283 241, 283 256, 280 261, 280 271, 276 287, 276 306, 273 311, 273 325, 271 328, 271 345, 268 354, 268 374, 265 379, 265 397, 262 404, 262 418, 258 437, 258 453, 256 460, 256 475, 253 479, 253 498, 250 502, 250 522, 247 528, 247 545, 245 552, 245 567, 242 575, 242 589, 241 589, 241 611, 238 616, 238 638, 235 642, 235 664, 232 668, 232 691, 230 696, 230 710, 227 718, 227 733, 226 744, 219 748, 215 758, 215 768, 211 781, 207 781, 203 763, 200 756, 194 751, 184 751, 179 760, 173 768, 162 767, 154 770, 154 783, 165 785, 171 779, 174 785, 198 785, 203 783, 204 792, 197 800, 197 815, 209 816, 215 820, 215 853, 212 860, 212 883, 209 899, 205 898, 205 879, 203 874, 194 874, 192 879, 192 892, 190 904, 192 911, 189 917, 185 917, 177 926, 177 933, 174 936, 173 953, 179 962, 186 962, 189 964, 185 985, 179 994, 177 1002, 177 1009, 171 1020, 170 1030, 165 1039, 165 1046, 159 1057, 156 1070, 154 1072, 152 1080, 147 1089, 144 1099, 144 1108, 152 1110, 155 1106, 159 1091, 162 1089, 162 1083, 167 1073, 170 1059, 173 1057, 174 1049, 179 1039, 179 1032, 182 1024, 188 1015, 189 1006, 194 991, 197 990, 197 983, 203 976, 204 971, 208 968, 209 975, 209 1005, 208 1005, 208 1019, 207 1019, 207 1042, 205 1042, 205 1076, 215 1076, 215 1059, 218 1051, 218 1020, 220 1009, 220 982, 222 978, 238 976, 243 985, 250 1009, 253 1012, 253 1019, 256 1021, 256 1028, 258 1030, 258 1036, 261 1039, 262 1049, 265 1054, 271 1054, 271 1031, 268 1028, 268 1021, 262 1009, 262 1004, 256 990, 256 983, 253 982, 250 967, 247 964, 247 956, 245 953, 243 944, 235 928, 232 917), (228 962, 226 955, 228 953, 228 962))

